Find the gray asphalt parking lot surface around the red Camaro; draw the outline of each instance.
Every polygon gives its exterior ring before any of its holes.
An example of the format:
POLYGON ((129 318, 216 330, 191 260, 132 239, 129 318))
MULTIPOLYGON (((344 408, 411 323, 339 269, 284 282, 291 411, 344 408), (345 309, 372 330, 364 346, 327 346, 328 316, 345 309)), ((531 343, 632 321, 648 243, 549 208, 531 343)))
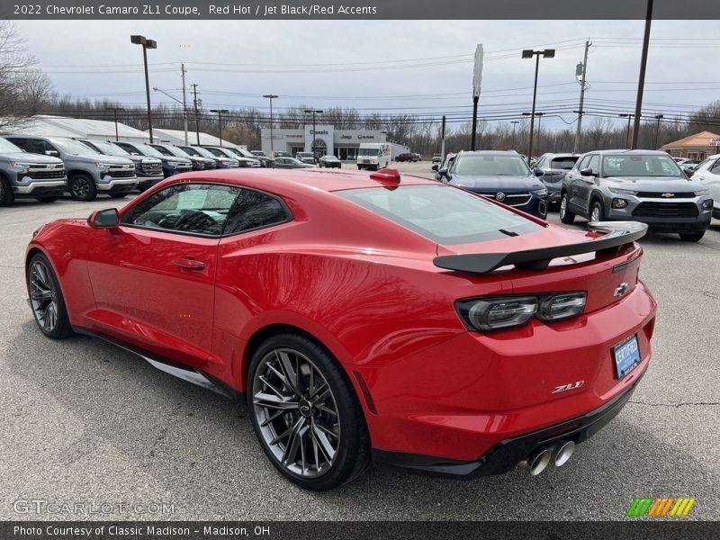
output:
MULTIPOLYGON (((432 174, 428 162, 400 168, 432 174)), ((624 519, 635 497, 664 496, 697 498, 689 519, 720 519, 720 221, 698 244, 641 241, 641 277, 660 304, 653 362, 626 409, 563 468, 458 482, 371 467, 310 493, 275 472, 244 407, 99 340, 52 341, 35 327, 23 277, 32 230, 122 204, 0 209, 0 519, 624 519), (23 500, 92 513, 22 513, 23 500), (174 511, 99 508, 151 502, 174 511)))

